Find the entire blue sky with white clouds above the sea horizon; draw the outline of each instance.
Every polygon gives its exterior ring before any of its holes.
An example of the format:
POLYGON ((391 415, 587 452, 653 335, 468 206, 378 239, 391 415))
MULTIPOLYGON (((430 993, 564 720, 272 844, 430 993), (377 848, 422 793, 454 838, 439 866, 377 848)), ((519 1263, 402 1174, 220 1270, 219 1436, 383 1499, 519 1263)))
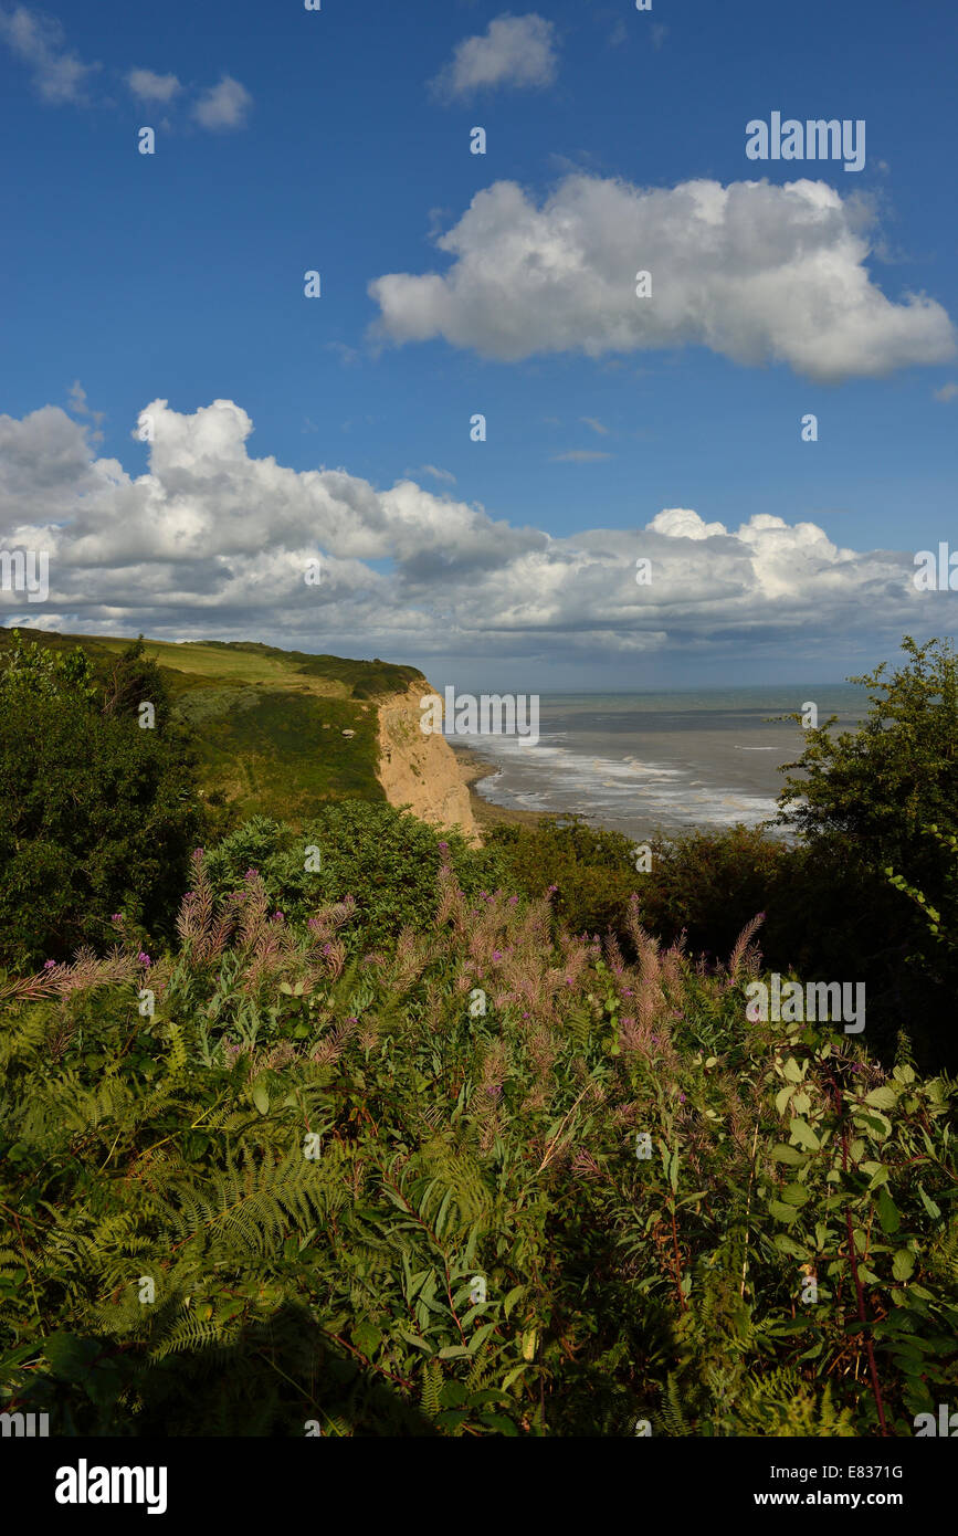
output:
POLYGON ((887 0, 0 5, 0 541, 54 551, 49 601, 0 593, 3 622, 543 691, 837 679, 953 628, 910 571, 958 547, 956 43, 953 6, 887 0), (772 111, 864 120, 864 169, 749 161, 772 111), (761 178, 703 215, 709 257, 680 189, 761 178), (798 180, 837 200, 783 203, 798 180), (676 508, 700 525, 649 536, 676 508), (755 516, 823 530, 794 591, 778 530, 737 538, 755 516))

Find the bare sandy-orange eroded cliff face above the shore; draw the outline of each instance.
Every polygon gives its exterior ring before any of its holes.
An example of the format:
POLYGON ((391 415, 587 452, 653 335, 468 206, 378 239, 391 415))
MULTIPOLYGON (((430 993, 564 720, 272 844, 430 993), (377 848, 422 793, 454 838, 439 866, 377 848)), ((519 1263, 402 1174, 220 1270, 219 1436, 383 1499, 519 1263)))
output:
POLYGON ((444 736, 425 736, 419 730, 419 700, 433 691, 430 684, 413 682, 405 693, 379 705, 376 777, 390 805, 408 805, 431 826, 456 826, 477 839, 468 788, 450 743, 444 736))

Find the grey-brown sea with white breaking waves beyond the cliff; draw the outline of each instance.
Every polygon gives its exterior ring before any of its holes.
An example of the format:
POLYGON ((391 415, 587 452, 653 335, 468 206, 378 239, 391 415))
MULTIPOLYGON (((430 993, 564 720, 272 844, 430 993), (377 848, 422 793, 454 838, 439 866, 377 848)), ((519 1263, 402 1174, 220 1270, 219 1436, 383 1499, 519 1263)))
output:
MULTIPOLYGON (((804 745, 804 730, 777 717, 809 703, 820 725, 838 717, 835 731, 854 731, 867 714, 866 690, 855 684, 540 694, 534 746, 514 736, 453 740, 494 766, 476 785, 493 805, 576 813, 628 837, 676 836, 771 822, 780 770, 804 745)), ((788 837, 783 828, 772 833, 788 837)))

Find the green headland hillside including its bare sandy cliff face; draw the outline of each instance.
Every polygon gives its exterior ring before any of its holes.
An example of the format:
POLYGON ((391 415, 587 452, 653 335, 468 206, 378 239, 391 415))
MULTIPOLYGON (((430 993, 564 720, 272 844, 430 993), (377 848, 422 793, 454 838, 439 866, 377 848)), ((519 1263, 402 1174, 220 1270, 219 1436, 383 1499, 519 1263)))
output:
MULTIPOLYGON (((0 654, 11 644, 0 630, 0 654)), ((55 650, 80 645, 106 677, 129 639, 20 628, 55 650)), ((200 788, 224 825, 256 813, 302 822, 329 800, 408 803, 473 831, 468 791, 442 737, 418 731, 430 684, 415 667, 310 656, 246 641, 144 641, 177 716, 193 728, 200 788), (345 736, 352 731, 352 736, 345 736)))

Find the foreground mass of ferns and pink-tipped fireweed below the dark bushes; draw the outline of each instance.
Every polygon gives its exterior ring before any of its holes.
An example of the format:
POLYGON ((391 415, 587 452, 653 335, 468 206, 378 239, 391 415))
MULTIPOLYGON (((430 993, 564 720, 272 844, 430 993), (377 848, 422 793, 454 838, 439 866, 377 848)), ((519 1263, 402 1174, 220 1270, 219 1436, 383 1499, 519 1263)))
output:
POLYGON ((706 975, 633 920, 629 966, 448 866, 428 909, 349 960, 350 903, 216 903, 197 859, 178 954, 0 982, 6 1412, 831 1438, 947 1401, 955 1084, 748 1025, 748 942, 706 975))

